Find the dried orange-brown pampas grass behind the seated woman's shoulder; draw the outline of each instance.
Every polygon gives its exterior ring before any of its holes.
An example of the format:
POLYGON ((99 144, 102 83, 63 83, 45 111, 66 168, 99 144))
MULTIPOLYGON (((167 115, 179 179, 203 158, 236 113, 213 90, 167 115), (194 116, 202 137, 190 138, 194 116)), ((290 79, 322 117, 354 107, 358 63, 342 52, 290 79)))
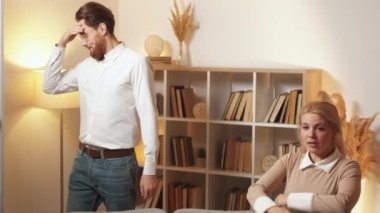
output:
POLYGON ((347 157, 359 163, 364 177, 380 181, 380 142, 374 141, 371 125, 377 113, 372 117, 354 117, 346 119, 346 104, 339 93, 329 96, 326 92, 318 93, 320 101, 329 101, 338 110, 342 124, 342 136, 347 157))

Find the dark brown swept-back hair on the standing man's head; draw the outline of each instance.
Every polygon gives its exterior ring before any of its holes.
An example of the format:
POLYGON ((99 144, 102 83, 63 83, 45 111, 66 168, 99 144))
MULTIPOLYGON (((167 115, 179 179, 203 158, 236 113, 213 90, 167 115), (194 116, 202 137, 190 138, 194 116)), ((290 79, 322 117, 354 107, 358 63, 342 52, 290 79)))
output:
POLYGON ((82 19, 84 19, 86 25, 92 28, 96 28, 100 23, 104 23, 107 26, 108 32, 113 35, 115 19, 112 11, 107 7, 97 2, 87 2, 75 14, 76 21, 82 19))

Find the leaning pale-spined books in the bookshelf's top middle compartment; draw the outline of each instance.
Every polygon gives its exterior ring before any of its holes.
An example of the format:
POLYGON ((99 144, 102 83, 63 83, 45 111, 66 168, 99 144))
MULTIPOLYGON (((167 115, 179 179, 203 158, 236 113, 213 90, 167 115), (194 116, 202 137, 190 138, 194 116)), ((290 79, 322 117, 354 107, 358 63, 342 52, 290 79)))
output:
POLYGON ((223 112, 223 120, 252 121, 252 91, 233 91, 230 93, 223 112))

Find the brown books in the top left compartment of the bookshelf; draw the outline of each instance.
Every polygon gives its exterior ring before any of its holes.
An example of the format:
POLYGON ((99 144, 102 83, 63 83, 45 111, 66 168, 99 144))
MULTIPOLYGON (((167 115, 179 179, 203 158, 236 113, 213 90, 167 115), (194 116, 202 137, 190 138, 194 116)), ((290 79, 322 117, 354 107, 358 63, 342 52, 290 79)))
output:
POLYGON ((194 118, 193 108, 196 99, 192 88, 183 85, 170 86, 170 105, 172 116, 176 118, 194 118))

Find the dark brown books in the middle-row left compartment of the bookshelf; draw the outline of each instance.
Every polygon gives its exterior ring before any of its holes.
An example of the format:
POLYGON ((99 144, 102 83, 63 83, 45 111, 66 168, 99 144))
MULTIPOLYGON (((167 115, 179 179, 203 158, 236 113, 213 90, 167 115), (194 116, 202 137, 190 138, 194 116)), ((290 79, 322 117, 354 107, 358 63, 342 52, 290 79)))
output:
POLYGON ((178 136, 171 140, 172 158, 175 166, 194 165, 194 152, 191 137, 178 136))

